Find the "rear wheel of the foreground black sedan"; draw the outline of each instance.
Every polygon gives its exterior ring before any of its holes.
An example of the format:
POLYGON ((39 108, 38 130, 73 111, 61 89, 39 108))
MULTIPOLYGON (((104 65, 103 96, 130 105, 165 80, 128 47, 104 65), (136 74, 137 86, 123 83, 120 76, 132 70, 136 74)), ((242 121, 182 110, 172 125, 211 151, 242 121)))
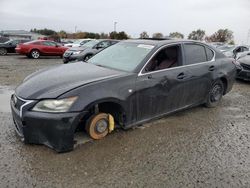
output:
POLYGON ((221 80, 215 81, 209 90, 207 101, 205 103, 206 107, 208 108, 216 107, 220 103, 223 93, 224 93, 224 84, 222 83, 221 80))

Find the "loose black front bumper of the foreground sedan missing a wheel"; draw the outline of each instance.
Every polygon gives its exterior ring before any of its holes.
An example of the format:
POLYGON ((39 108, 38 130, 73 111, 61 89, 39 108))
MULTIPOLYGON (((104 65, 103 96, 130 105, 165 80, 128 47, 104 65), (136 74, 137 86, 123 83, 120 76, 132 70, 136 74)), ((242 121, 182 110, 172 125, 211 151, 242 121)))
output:
POLYGON ((20 111, 11 100, 15 129, 24 143, 43 144, 57 152, 73 150, 75 130, 87 112, 42 113, 29 111, 28 106, 20 111))

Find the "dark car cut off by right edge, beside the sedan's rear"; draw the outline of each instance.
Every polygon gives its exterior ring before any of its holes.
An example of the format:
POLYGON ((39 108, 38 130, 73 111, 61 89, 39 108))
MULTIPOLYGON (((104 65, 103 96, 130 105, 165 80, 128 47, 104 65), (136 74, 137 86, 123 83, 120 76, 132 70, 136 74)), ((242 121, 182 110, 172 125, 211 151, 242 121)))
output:
POLYGON ((237 57, 237 62, 236 78, 250 81, 250 51, 241 53, 237 57))

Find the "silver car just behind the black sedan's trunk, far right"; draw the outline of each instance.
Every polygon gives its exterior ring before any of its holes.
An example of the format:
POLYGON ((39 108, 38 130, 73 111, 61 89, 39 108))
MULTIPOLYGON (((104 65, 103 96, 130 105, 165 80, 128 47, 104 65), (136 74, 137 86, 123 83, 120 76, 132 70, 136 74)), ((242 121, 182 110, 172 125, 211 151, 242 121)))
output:
POLYGON ((234 46, 234 45, 226 45, 218 47, 218 49, 224 53, 227 57, 236 58, 238 53, 249 51, 249 46, 234 46))

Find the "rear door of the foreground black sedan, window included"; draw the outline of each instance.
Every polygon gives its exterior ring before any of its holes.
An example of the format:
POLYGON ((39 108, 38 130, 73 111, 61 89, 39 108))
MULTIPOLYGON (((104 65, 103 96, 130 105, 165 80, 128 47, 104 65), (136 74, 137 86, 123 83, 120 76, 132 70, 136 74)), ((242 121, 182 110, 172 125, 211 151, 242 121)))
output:
POLYGON ((205 100, 219 64, 215 62, 214 51, 205 45, 185 43, 183 48, 184 69, 189 74, 186 79, 189 92, 185 95, 185 101, 187 105, 194 105, 205 100))

